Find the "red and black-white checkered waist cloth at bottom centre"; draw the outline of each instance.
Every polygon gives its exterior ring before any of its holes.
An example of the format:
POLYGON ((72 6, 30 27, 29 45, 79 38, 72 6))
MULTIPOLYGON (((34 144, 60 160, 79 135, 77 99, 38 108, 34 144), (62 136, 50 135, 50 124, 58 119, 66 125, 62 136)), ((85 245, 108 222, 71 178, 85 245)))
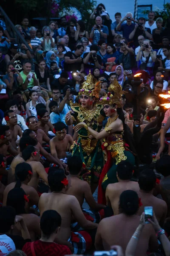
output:
POLYGON ((83 254, 92 245, 91 236, 86 231, 71 232, 68 242, 74 247, 74 254, 83 254))

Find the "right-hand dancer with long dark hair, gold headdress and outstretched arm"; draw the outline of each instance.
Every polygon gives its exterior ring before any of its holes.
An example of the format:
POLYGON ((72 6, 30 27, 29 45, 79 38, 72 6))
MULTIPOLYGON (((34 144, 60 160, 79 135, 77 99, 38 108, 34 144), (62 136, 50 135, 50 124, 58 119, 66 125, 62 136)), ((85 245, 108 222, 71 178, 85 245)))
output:
POLYGON ((107 161, 99 179, 98 202, 100 204, 106 202, 105 189, 108 184, 118 182, 116 177, 117 164, 124 160, 130 162, 133 166, 135 164, 135 157, 130 152, 130 150, 134 151, 134 147, 121 108, 122 87, 115 79, 108 91, 109 93, 99 101, 103 104, 105 115, 109 117, 104 130, 95 131, 85 122, 80 122, 74 127, 76 132, 85 128, 96 140, 103 140, 102 150, 105 156, 107 154, 107 161), (130 150, 125 148, 125 142, 129 145, 130 150))

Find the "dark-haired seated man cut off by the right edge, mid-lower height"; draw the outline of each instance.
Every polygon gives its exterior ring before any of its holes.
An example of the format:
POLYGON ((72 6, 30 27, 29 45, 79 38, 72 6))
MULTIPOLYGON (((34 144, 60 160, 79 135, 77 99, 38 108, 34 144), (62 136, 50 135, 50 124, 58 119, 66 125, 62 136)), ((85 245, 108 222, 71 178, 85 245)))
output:
POLYGON ((156 172, 164 176, 160 181, 160 194, 167 203, 167 217, 170 217, 170 155, 164 155, 156 162, 156 172))

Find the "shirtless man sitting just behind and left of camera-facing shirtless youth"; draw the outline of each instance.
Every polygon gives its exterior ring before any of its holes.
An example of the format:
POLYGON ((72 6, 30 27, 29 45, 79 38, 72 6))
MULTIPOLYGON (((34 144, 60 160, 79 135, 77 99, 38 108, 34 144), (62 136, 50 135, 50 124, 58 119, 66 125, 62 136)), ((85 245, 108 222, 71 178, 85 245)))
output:
POLYGON ((38 109, 37 110, 37 116, 39 121, 39 129, 45 132, 45 134, 48 136, 48 131, 53 131, 54 126, 50 122, 50 115, 48 114, 48 111, 46 108, 38 109))

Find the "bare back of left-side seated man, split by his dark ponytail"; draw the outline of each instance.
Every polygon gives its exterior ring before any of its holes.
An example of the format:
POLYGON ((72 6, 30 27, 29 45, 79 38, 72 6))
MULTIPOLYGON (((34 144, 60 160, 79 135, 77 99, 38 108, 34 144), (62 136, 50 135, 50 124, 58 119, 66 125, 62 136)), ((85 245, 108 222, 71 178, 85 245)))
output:
MULTIPOLYGON (((26 195, 29 195, 29 206, 31 207, 32 205, 38 205, 40 198, 37 191, 33 187, 28 186, 28 182, 30 180, 31 180, 31 174, 28 174, 26 177, 26 180, 21 182, 21 188, 26 192, 26 195)), ((11 189, 13 189, 15 185, 16 185, 16 182, 12 182, 8 186, 6 186, 6 189, 3 194, 3 206, 6 206, 8 192, 11 189)))

